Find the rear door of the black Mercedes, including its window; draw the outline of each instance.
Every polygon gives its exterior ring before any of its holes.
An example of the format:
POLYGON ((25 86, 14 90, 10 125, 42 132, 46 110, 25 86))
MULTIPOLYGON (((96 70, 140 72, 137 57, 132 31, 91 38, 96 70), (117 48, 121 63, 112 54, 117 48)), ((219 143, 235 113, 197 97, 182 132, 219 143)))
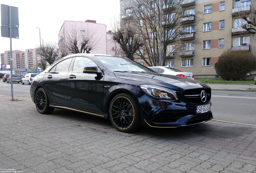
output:
POLYGON ((66 78, 71 61, 72 57, 62 60, 45 72, 43 81, 50 103, 68 106, 66 78))

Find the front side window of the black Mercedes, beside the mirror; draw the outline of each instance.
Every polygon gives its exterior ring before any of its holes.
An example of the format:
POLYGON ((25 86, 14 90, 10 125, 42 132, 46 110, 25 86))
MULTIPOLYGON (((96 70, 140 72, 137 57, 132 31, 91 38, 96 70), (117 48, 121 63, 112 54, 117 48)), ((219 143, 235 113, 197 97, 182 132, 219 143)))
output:
POLYGON ((74 60, 73 71, 83 72, 83 69, 88 66, 96 66, 95 62, 86 57, 76 57, 74 60))

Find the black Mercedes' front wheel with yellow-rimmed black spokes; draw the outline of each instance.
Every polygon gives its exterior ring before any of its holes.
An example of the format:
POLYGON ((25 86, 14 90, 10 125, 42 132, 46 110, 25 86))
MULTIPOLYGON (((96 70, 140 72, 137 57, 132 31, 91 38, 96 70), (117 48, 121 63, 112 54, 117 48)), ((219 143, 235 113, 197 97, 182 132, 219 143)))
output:
POLYGON ((140 110, 136 100, 126 93, 116 95, 109 106, 109 119, 120 132, 131 133, 140 128, 140 110))

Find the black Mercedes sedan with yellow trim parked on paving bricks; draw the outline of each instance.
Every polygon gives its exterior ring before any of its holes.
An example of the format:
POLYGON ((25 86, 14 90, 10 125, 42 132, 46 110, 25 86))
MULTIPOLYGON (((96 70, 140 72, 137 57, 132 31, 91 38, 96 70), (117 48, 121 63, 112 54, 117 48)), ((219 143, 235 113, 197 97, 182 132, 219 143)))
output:
POLYGON ((182 127, 211 120, 211 88, 196 80, 159 74, 128 58, 72 54, 33 78, 39 113, 69 109, 110 119, 121 132, 182 127))

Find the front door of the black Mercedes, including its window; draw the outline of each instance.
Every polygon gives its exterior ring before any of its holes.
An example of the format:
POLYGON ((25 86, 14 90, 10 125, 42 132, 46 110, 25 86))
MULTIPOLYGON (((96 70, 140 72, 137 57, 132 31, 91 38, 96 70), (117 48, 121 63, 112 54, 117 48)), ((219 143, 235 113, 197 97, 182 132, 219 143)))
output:
POLYGON ((68 105, 94 112, 103 112, 103 77, 83 73, 84 67, 97 67, 90 58, 77 56, 72 71, 68 72, 68 105))

